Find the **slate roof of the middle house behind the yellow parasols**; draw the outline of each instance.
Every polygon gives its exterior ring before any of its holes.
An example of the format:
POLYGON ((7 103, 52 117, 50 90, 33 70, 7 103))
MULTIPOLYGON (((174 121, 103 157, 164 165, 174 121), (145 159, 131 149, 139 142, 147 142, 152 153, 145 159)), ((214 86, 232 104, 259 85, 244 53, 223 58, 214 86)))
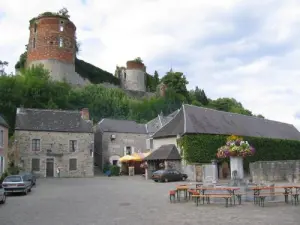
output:
POLYGON ((103 119, 97 126, 102 132, 147 134, 145 124, 131 120, 103 119))

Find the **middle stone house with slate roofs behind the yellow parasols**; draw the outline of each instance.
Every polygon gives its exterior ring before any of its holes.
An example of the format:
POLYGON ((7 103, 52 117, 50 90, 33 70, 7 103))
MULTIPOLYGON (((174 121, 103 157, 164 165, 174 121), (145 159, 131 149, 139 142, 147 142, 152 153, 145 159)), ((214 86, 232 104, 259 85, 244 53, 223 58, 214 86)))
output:
POLYGON ((130 120, 102 119, 95 126, 95 164, 103 169, 105 164, 120 165, 124 155, 144 153, 153 149, 150 138, 177 113, 168 116, 162 113, 146 124, 130 120))

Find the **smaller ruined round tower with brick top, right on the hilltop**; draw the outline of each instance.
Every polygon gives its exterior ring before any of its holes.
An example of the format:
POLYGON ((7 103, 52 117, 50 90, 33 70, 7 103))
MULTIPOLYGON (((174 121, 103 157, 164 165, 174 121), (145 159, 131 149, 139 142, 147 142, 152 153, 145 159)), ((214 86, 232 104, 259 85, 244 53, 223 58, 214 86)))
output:
POLYGON ((115 76, 120 79, 121 88, 146 92, 146 67, 142 62, 131 60, 126 68, 117 66, 115 76))

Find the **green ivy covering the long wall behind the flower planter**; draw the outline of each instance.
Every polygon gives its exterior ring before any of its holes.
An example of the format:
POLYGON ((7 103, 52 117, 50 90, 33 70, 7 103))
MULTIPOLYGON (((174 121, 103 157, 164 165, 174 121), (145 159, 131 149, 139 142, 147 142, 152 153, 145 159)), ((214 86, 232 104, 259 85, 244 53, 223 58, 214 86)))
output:
MULTIPOLYGON (((184 135, 178 140, 178 145, 188 163, 210 163, 212 159, 216 159, 217 149, 226 143, 227 137, 210 134, 184 135)), ((245 169, 248 169, 250 162, 255 161, 300 159, 300 141, 259 137, 243 139, 256 149, 254 156, 245 158, 245 169)))

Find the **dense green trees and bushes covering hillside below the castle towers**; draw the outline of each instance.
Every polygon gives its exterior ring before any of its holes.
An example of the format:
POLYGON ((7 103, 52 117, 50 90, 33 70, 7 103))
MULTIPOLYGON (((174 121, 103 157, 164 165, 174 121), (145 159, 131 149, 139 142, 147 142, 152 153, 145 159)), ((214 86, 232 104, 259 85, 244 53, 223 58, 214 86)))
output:
MULTIPOLYGON (((168 79, 172 79, 170 72, 168 79)), ((194 104, 196 101, 197 104, 210 108, 222 102, 222 99, 208 100, 204 90, 200 89, 183 96, 174 90, 173 84, 176 85, 176 82, 169 83, 164 97, 157 93, 151 98, 134 99, 121 89, 105 88, 101 84, 72 88, 67 83, 51 81, 48 71, 42 66, 36 66, 21 69, 16 76, 0 77, 0 109, 10 127, 14 128, 16 108, 21 105, 26 108, 69 110, 87 107, 95 122, 105 117, 147 122, 161 112, 169 114, 175 111, 183 102, 194 104)), ((239 109, 241 113, 247 111, 234 99, 226 99, 225 102, 230 105, 224 107, 225 110, 239 109)), ((13 129, 10 131, 12 134, 13 129)))

